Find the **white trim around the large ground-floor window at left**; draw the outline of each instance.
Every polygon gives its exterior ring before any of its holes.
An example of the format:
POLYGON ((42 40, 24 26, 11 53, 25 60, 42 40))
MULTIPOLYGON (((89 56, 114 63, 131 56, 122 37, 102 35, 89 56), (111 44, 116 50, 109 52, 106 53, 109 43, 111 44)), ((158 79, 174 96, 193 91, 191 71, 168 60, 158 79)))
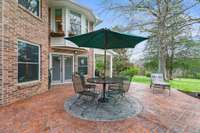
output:
POLYGON ((28 42, 28 41, 24 41, 24 40, 21 40, 21 39, 17 39, 17 84, 18 85, 24 85, 24 84, 30 84, 30 83, 36 83, 36 82, 40 82, 41 81, 41 57, 40 57, 40 45, 39 44, 36 44, 36 43, 32 43, 32 42, 28 42), (39 60, 38 60, 38 65, 39 65, 39 68, 38 68, 38 80, 32 80, 32 81, 26 81, 26 82, 19 82, 18 81, 18 42, 24 42, 24 43, 27 43, 29 45, 33 45, 33 46, 37 46, 39 48, 39 51, 38 51, 38 56, 39 56, 39 60))

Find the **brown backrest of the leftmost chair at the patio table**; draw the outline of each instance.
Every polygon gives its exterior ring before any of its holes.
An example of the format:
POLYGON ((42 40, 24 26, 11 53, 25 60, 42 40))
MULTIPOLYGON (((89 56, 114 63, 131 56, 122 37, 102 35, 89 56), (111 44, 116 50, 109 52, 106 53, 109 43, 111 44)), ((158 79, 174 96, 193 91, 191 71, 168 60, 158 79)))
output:
POLYGON ((73 76, 72 76, 72 81, 73 81, 75 93, 79 93, 79 92, 84 91, 84 87, 82 85, 82 81, 81 81, 79 74, 74 73, 73 76))

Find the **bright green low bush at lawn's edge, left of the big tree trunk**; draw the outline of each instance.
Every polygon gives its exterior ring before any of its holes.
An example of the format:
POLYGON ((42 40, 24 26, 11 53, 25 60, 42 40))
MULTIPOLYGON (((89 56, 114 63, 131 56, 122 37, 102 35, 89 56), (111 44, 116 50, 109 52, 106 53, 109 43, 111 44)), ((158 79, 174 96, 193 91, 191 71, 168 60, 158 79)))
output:
POLYGON ((138 74, 139 71, 140 71, 139 67, 129 67, 128 69, 120 72, 120 75, 131 77, 131 76, 138 74))

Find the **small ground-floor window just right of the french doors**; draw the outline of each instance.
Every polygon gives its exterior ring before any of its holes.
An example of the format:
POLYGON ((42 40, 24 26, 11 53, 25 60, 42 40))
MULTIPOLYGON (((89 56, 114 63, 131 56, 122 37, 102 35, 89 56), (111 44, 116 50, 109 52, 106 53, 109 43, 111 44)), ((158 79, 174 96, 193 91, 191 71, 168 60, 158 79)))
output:
POLYGON ((86 56, 78 57, 78 73, 87 75, 88 73, 88 58, 86 56))

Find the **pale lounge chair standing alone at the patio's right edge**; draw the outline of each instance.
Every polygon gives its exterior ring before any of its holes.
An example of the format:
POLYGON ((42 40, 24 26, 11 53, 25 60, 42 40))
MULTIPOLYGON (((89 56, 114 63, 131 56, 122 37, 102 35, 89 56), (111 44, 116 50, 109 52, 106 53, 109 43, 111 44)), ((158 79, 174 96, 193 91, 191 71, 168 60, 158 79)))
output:
POLYGON ((165 82, 162 73, 153 73, 153 74, 151 74, 150 88, 153 88, 153 94, 154 94, 154 89, 155 88, 162 88, 162 89, 168 89, 169 90, 169 96, 171 95, 170 84, 165 82))

